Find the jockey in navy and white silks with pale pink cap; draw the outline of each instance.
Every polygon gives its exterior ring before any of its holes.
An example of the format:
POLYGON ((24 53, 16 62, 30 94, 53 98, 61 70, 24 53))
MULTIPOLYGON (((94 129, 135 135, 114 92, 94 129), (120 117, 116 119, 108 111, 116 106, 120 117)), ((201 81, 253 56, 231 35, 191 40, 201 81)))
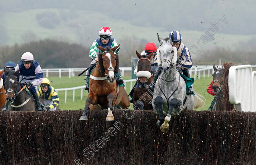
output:
POLYGON ((20 69, 20 80, 23 85, 29 86, 29 91, 35 99, 37 105, 37 111, 42 111, 39 96, 37 94, 37 86, 43 82, 43 71, 37 61, 34 60, 34 56, 30 52, 26 52, 21 56, 21 61, 15 67, 15 71, 20 69))

